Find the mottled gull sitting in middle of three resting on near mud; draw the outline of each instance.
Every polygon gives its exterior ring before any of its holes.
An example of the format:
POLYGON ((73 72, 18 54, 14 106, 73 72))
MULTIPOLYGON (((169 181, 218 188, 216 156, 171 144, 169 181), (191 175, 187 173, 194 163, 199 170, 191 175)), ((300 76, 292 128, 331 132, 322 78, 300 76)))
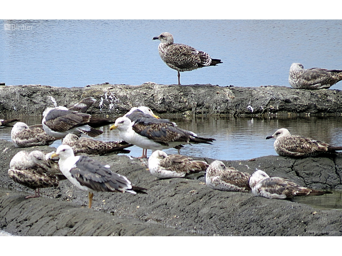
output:
POLYGON ((215 160, 207 168, 206 183, 209 187, 221 191, 248 192, 250 174, 240 172, 234 167, 226 167, 215 160))

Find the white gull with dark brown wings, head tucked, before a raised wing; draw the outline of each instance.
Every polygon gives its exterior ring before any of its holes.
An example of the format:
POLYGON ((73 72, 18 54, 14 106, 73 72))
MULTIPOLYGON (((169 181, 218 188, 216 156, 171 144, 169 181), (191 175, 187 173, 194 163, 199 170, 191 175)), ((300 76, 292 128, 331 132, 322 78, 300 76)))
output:
POLYGON ((63 138, 68 133, 79 135, 85 133, 96 137, 103 131, 96 130, 88 125, 91 115, 70 111, 63 106, 47 108, 43 112, 42 125, 46 133, 55 138, 63 138))

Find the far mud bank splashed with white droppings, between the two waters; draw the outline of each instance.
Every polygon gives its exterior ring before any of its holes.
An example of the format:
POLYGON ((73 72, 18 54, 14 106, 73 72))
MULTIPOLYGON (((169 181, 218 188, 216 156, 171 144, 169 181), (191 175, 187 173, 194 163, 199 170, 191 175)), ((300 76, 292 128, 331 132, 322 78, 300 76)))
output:
MULTIPOLYGON (((63 85, 61 85, 63 86, 63 85)), ((138 86, 109 83, 85 87, 19 85, 0 87, 2 117, 42 113, 47 106, 69 106, 82 98, 95 97, 90 114, 119 116, 131 107, 149 106, 164 117, 182 115, 305 116, 342 113, 342 91, 298 90, 286 86, 220 87, 218 85, 138 86)))

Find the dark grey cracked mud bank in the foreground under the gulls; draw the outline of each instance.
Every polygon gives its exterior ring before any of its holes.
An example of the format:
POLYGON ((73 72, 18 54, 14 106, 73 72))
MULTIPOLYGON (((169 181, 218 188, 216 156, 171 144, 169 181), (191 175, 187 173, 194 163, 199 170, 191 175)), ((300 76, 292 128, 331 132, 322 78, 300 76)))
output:
MULTIPOLYGON (((48 146, 27 151, 54 150, 48 146)), ((342 213, 318 210, 289 200, 253 197, 250 193, 212 190, 198 180, 158 180, 147 161, 125 155, 93 156, 148 195, 96 193, 87 209, 87 193, 62 181, 41 189, 41 198, 25 199, 33 190, 14 183, 7 170, 22 149, 0 140, 0 229, 19 236, 322 236, 342 234, 342 213), (313 232, 315 231, 315 232, 313 232), (317 233, 318 231, 318 233, 317 233)), ((213 159, 203 160, 210 163, 213 159)), ((241 171, 256 167, 271 176, 288 177, 312 188, 341 188, 342 154, 335 157, 290 159, 265 156, 223 161, 241 171)))

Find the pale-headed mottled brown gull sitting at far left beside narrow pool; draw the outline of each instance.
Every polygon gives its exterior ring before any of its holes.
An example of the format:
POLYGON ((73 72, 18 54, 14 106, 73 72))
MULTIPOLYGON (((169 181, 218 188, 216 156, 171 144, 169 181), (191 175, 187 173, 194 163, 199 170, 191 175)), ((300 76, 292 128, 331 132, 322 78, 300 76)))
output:
POLYGON ((12 128, 11 139, 15 147, 33 147, 51 145, 58 138, 48 135, 41 125, 29 127, 17 122, 12 128))

